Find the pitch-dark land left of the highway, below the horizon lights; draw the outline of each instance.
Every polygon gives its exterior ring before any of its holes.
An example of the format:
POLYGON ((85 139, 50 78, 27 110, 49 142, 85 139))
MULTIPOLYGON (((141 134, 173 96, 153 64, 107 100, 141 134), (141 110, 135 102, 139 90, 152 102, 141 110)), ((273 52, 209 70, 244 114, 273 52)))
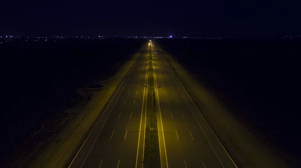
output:
POLYGON ((142 39, 122 38, 2 43, 0 167, 37 145, 43 148, 39 142, 68 123, 64 111, 89 99, 79 89, 112 76, 142 44, 142 39))

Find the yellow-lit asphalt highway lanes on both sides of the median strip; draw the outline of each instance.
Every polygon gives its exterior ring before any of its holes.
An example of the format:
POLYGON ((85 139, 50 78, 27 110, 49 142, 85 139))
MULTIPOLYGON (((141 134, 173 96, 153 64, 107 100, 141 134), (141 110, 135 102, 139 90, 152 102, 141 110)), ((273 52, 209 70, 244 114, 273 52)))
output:
POLYGON ((69 167, 142 167, 148 66, 161 86, 155 92, 162 167, 235 167, 159 48, 152 46, 153 62, 148 50, 145 44, 69 167))

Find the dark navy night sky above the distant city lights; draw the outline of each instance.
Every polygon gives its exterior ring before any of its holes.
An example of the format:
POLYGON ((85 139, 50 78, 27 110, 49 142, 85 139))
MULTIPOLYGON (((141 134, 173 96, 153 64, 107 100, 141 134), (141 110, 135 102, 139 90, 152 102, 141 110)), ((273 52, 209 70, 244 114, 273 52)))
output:
POLYGON ((2 0, 0 34, 299 35, 300 11, 279 0, 2 0))

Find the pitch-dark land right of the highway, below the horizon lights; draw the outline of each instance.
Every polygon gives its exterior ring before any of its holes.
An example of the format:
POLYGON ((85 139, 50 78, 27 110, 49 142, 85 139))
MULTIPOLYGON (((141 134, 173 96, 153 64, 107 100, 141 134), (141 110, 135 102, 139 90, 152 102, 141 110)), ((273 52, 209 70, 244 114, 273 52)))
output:
POLYGON ((300 39, 156 39, 278 155, 300 167, 300 39))

